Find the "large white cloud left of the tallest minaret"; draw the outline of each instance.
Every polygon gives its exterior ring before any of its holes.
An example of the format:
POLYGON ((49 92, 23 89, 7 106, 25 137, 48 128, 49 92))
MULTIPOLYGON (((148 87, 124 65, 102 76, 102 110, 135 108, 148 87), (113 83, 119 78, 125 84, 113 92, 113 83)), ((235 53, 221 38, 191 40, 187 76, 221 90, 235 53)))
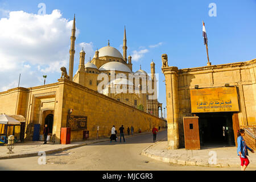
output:
MULTIPOLYGON (((0 9, 0 15, 6 17, 0 19, 0 92, 18 86, 19 73, 23 87, 42 85, 46 73, 48 83, 56 82, 60 67, 69 63, 73 19, 60 10, 38 15, 0 9)), ((92 43, 84 44, 89 55, 92 43)))

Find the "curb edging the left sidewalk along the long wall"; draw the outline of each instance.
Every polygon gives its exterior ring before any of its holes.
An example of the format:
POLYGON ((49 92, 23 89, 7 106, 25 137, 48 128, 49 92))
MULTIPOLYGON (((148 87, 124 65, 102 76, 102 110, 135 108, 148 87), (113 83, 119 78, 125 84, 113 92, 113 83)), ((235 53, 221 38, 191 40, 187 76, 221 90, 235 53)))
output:
MULTIPOLYGON (((150 134, 150 132, 138 133, 138 134, 134 134, 134 135, 127 135, 127 136, 125 136, 125 138, 126 137, 128 137, 128 138, 129 137, 135 137, 135 136, 138 136, 138 135, 146 135, 146 134, 150 134)), ((94 143, 100 143, 100 142, 106 142, 106 141, 109 141, 109 139, 104 139, 104 140, 100 140, 100 141, 95 140, 95 141, 92 141, 92 142, 89 142, 89 143, 82 143, 82 144, 77 144, 75 146, 61 147, 61 148, 46 150, 44 152, 46 152, 46 154, 52 154, 52 153, 59 152, 59 151, 64 151, 64 150, 69 150, 69 149, 72 149, 72 148, 86 146, 88 144, 94 144, 94 143)), ((0 155, 0 160, 2 160, 2 159, 27 158, 27 157, 31 157, 31 156, 39 156, 38 152, 39 151, 27 152, 27 153, 23 153, 23 154, 10 154, 10 155, 4 155, 4 156, 0 155)))

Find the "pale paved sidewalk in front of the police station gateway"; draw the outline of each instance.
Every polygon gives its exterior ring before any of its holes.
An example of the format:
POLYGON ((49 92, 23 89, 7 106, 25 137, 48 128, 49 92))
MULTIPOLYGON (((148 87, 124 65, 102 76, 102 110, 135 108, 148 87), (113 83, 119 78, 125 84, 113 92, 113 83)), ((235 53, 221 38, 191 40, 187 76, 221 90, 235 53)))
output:
MULTIPOLYGON (((249 152, 248 159, 250 164, 248 168, 256 169, 256 151, 255 153, 249 152)), ((159 141, 147 147, 141 152, 152 159, 160 160, 162 162, 192 165, 192 166, 208 166, 208 167, 240 167, 241 160, 237 156, 237 147, 214 147, 202 148, 201 150, 185 150, 180 148, 177 150, 167 150, 167 141, 159 141), (209 153, 212 151, 211 153, 209 153), (216 153, 215 153, 215 152, 216 153), (215 164, 212 159, 216 154, 217 161, 215 164)))

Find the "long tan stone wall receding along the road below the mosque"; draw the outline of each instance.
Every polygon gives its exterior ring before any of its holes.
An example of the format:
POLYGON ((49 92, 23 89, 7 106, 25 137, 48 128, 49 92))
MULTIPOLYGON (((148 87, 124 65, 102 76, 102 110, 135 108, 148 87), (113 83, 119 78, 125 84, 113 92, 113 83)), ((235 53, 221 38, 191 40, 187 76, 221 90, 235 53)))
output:
MULTIPOLYGON (((67 126, 69 109, 73 109, 72 115, 84 115, 87 117, 90 138, 96 138, 97 126, 100 126, 100 136, 108 137, 113 125, 117 130, 123 125, 125 131, 128 126, 133 125, 135 132, 138 132, 139 129, 142 132, 150 131, 150 122, 151 126, 164 126, 164 121, 158 117, 123 104, 75 82, 64 79, 59 80, 59 82, 63 84, 64 88, 61 127, 67 126)), ((72 131, 72 141, 81 139, 82 131, 72 131)))

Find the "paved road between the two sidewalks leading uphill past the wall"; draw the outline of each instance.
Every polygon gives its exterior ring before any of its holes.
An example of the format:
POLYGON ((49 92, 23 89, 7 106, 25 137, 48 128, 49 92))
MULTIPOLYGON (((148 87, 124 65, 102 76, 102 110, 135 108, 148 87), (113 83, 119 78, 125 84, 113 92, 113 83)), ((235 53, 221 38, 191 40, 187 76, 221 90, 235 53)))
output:
MULTIPOLYGON (((167 139, 167 131, 158 133, 156 139, 167 139)), ((101 142, 46 156, 46 164, 39 165, 39 156, 0 160, 1 170, 239 170, 238 168, 214 168, 180 166, 158 162, 139 155, 152 144, 152 135, 138 135, 126 139, 126 143, 101 142)))

